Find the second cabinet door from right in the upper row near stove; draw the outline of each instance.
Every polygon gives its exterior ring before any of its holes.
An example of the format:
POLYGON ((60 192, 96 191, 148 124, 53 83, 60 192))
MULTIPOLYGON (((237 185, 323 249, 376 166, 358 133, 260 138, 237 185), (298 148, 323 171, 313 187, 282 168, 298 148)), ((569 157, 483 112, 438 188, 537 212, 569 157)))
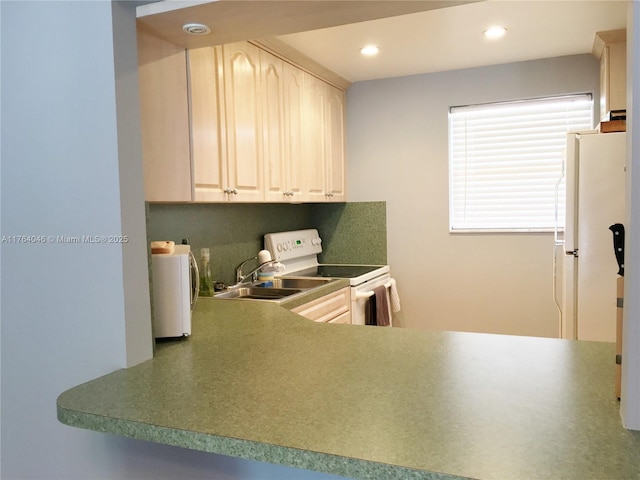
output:
POLYGON ((308 73, 303 77, 303 168, 305 171, 304 200, 326 201, 326 88, 325 83, 308 73))

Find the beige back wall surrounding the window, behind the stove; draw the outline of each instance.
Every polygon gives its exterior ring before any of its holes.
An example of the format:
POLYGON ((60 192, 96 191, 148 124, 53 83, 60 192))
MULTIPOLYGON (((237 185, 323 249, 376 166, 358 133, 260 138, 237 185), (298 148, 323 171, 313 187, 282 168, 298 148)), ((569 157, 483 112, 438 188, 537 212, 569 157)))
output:
POLYGON ((349 200, 387 201, 399 325, 557 336, 552 234, 448 233, 447 115, 455 105, 576 92, 594 93, 597 105, 598 89, 591 55, 351 86, 349 200))

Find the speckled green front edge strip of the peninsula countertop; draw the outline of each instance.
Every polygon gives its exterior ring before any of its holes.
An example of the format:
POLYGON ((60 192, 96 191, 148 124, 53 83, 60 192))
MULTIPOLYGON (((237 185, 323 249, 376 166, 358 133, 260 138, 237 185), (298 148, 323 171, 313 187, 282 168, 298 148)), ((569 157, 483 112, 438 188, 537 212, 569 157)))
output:
MULTIPOLYGON (((64 393, 62 394, 64 395, 64 393)), ((110 433, 207 453, 256 460, 361 480, 473 480, 439 472, 416 470, 327 453, 224 437, 133 420, 79 412, 57 405, 58 421, 64 425, 110 433)))

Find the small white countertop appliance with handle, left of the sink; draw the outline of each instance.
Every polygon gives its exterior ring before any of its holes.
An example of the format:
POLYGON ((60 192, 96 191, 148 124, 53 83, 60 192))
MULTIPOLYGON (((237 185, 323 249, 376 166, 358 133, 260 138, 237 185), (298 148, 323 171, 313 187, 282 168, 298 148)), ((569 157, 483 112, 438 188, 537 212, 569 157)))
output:
POLYGON ((155 338, 191 335, 191 311, 198 300, 198 266, 189 245, 151 255, 155 338))

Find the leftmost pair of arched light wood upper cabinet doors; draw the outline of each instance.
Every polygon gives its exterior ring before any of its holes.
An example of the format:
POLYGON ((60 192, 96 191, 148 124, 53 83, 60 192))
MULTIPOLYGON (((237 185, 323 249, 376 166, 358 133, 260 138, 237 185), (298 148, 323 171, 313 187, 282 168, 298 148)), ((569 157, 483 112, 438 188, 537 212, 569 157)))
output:
POLYGON ((264 200, 260 51, 248 43, 189 50, 194 200, 264 200))

